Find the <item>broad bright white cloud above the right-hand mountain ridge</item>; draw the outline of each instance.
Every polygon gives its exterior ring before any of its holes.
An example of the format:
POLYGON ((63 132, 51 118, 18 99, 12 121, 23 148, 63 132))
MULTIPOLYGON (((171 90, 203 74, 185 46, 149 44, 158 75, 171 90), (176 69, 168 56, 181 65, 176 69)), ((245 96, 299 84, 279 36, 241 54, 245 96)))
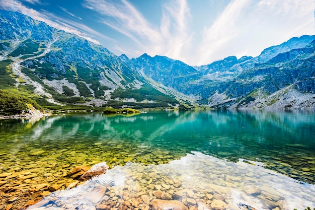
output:
POLYGON ((205 28, 191 63, 201 65, 230 55, 257 56, 293 36, 314 34, 313 0, 233 0, 205 28))

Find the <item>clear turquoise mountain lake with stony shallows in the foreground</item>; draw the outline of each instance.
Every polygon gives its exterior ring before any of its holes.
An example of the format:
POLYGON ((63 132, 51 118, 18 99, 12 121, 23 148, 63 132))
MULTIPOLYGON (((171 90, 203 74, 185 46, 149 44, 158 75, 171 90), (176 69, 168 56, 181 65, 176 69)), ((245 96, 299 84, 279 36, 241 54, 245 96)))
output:
POLYGON ((1 120, 2 206, 47 195, 28 209, 313 208, 314 136, 315 113, 298 110, 1 120), (69 189, 70 169, 100 162, 106 174, 69 189))

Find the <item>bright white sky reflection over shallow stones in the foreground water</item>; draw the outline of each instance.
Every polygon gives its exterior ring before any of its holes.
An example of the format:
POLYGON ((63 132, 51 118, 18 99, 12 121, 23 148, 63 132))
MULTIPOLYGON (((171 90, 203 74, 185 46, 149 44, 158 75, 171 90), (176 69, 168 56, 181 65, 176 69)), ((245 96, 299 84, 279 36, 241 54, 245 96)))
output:
POLYGON ((302 209, 315 187, 241 160, 201 153, 169 164, 127 163, 28 209, 302 209))

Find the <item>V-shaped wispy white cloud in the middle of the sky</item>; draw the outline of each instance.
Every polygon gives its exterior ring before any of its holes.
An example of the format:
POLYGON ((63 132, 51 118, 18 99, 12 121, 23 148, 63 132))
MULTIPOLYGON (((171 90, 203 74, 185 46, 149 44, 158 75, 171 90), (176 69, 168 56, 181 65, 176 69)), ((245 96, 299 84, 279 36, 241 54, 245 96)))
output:
MULTIPOLYGON (((127 0, 89 0, 85 1, 84 7, 102 15, 100 22, 133 40, 139 51, 183 60, 185 48, 191 40, 188 33, 191 15, 186 0, 175 0, 161 8, 160 27, 152 26, 127 0)), ((122 48, 126 49, 126 46, 116 46, 116 49, 122 48)))

